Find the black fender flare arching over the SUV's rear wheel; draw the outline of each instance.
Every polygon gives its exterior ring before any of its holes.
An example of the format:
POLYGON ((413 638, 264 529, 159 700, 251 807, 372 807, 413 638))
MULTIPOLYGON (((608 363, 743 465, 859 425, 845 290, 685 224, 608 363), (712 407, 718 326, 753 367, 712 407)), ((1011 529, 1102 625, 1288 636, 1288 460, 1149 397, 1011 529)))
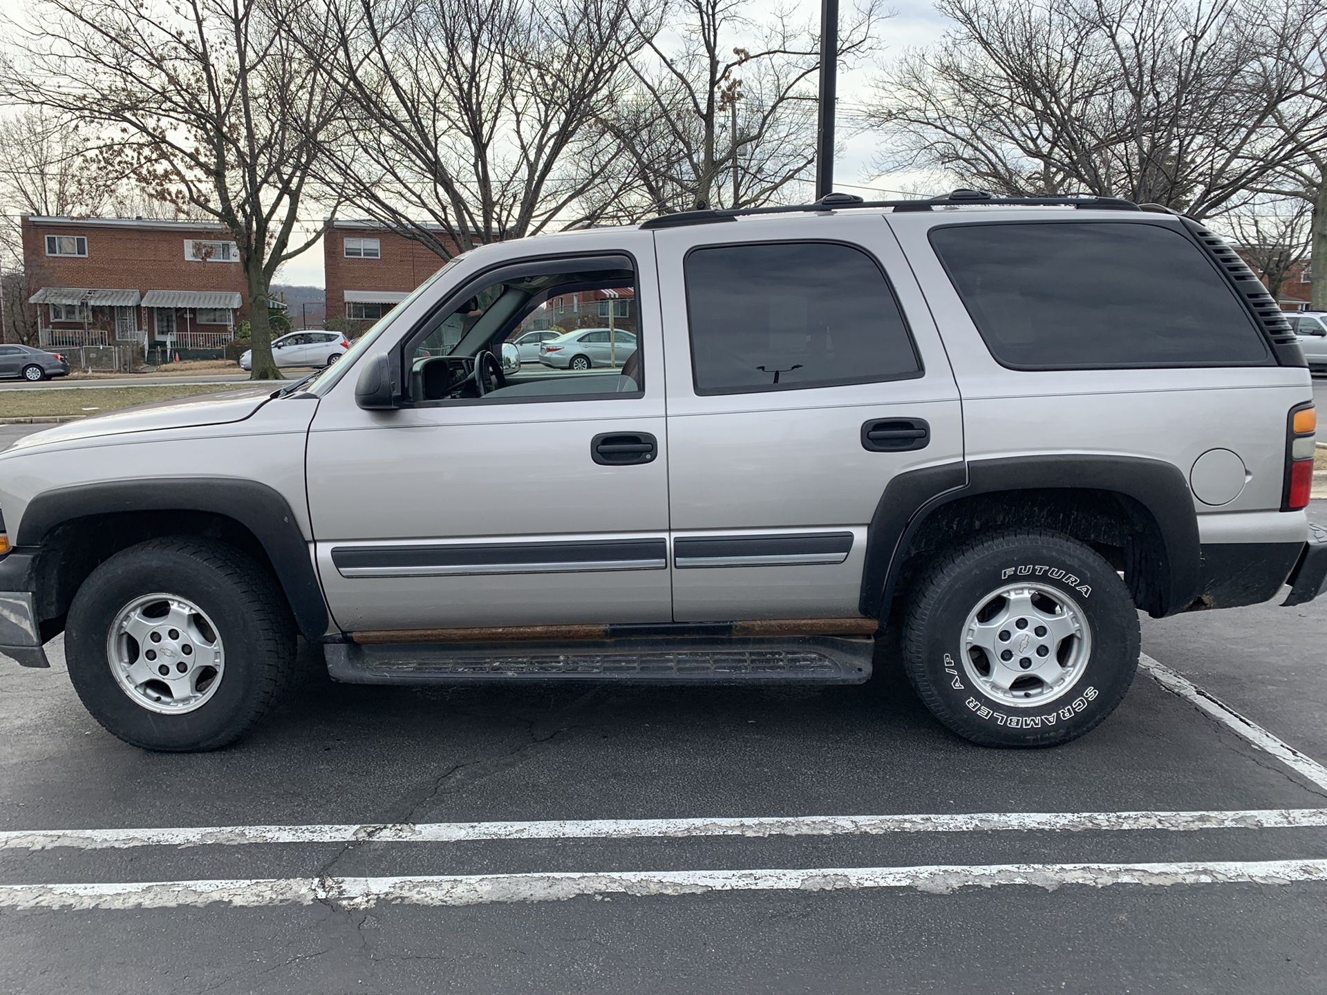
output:
POLYGON ((1143 456, 1050 455, 941 463, 893 478, 867 529, 860 610, 880 617, 902 569, 902 551, 937 508, 981 494, 1092 490, 1131 498, 1156 520, 1168 564, 1161 612, 1182 612, 1202 590, 1198 516, 1189 482, 1173 463, 1143 456))

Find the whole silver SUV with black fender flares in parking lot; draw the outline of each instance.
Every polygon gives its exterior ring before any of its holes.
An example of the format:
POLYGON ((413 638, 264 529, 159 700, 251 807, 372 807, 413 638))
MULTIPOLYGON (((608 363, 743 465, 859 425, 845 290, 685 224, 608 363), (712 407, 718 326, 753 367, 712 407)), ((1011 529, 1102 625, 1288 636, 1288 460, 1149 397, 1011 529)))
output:
POLYGON ((831 195, 486 245, 304 381, 0 455, 0 650, 44 666, 64 631, 92 714, 153 750, 239 736, 297 634, 380 685, 874 658, 975 743, 1063 743, 1124 696, 1140 610, 1323 590, 1311 398, 1239 256, 1120 200, 831 195), (504 374, 502 344, 598 300, 620 367, 504 374))

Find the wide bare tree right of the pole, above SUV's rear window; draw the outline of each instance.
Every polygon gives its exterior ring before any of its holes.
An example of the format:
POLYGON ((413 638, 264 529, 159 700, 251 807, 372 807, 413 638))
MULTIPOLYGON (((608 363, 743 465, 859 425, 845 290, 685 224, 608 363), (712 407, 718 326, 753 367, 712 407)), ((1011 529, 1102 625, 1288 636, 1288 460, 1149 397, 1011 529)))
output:
POLYGON ((881 78, 881 168, 999 194, 1230 210, 1312 131, 1308 81, 1266 58, 1286 8, 1254 0, 940 0, 954 28, 881 78), (1259 13, 1261 12, 1261 13, 1259 13), (1254 17, 1254 13, 1259 13, 1254 17), (1281 125, 1277 115, 1283 114, 1281 125))

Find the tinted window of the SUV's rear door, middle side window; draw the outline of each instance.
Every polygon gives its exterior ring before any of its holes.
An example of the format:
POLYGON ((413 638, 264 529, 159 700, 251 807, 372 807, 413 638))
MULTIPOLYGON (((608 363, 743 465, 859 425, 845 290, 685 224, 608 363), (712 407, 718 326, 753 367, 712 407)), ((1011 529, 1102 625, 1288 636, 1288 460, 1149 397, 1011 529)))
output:
POLYGON ((697 394, 920 377, 880 265, 827 241, 693 249, 686 302, 697 394))

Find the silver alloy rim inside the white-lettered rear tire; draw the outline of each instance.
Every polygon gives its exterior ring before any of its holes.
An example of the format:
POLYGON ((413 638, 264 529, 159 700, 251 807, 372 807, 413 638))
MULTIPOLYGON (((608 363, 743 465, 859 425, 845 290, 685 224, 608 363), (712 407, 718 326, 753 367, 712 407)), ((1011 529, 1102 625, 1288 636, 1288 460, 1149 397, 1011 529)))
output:
POLYGON ((963 671, 989 698, 1015 708, 1064 695, 1091 655, 1083 609, 1044 584, 999 586, 963 622, 963 671))

